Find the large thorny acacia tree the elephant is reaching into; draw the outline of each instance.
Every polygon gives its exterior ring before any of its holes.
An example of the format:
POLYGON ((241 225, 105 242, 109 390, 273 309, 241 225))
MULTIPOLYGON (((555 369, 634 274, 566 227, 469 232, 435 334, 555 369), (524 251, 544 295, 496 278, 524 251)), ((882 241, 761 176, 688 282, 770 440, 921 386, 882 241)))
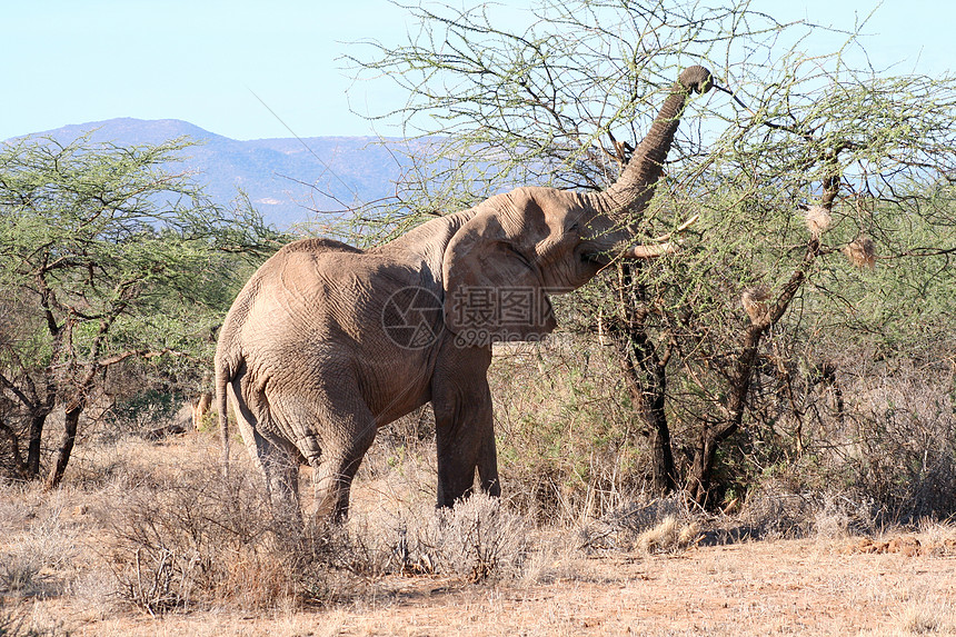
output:
MULTIPOLYGON (((429 140, 400 202, 407 223, 515 183, 603 188, 680 68, 704 64, 733 89, 688 107, 634 220, 655 236, 700 213, 684 249, 619 266, 559 305, 579 321, 566 326, 614 337, 658 491, 685 486, 715 504, 721 444, 759 420, 753 380, 768 335, 776 348, 806 336, 815 308, 853 302, 845 256, 869 267, 876 249, 880 263, 935 255, 932 272, 956 245, 956 81, 852 68, 849 53, 864 53, 854 32, 826 32, 843 38, 837 49, 808 54, 820 28, 747 1, 541 2, 508 27, 484 7, 411 11, 421 28, 407 44, 357 60, 408 91, 382 117, 429 140), (675 457, 688 458, 683 470, 675 457)), ((940 282, 938 270, 924 280, 940 282)))

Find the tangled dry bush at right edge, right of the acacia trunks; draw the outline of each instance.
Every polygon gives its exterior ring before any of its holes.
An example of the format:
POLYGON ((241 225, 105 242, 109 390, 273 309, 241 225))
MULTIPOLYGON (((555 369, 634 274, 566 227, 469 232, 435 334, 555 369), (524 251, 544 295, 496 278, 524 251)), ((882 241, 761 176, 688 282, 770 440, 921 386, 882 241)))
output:
POLYGON ((816 366, 784 355, 755 374, 754 420, 721 458, 748 524, 838 536, 956 514, 952 368, 867 349, 828 355, 816 366))

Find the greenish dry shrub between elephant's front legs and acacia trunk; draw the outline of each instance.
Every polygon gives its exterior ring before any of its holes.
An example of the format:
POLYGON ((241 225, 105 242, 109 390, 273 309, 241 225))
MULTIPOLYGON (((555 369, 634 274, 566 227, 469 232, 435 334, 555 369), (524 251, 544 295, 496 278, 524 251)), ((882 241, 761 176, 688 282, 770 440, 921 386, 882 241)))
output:
POLYGON ((496 347, 489 384, 501 482, 539 524, 600 518, 646 487, 646 445, 613 349, 570 335, 496 347))

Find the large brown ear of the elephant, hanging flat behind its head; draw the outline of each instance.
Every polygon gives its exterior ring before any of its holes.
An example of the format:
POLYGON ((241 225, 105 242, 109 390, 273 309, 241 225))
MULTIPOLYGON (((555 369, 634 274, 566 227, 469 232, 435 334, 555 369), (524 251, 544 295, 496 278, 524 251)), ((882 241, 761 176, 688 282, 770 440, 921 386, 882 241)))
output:
POLYGON ((445 325, 469 346, 538 340, 557 325, 532 250, 482 211, 451 238, 441 267, 445 325))

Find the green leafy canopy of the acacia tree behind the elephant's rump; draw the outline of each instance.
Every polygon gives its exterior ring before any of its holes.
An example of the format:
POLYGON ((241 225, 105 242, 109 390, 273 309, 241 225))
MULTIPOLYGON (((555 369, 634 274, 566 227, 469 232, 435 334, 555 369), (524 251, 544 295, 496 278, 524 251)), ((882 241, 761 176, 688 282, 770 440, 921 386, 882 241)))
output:
POLYGON ((34 139, 0 153, 0 283, 76 325, 80 356, 102 320, 127 347, 157 345, 170 310, 191 311, 186 322, 198 327, 196 310, 221 311, 236 289, 232 255, 269 250, 273 236, 253 211, 220 210, 166 168, 187 147, 34 139))

